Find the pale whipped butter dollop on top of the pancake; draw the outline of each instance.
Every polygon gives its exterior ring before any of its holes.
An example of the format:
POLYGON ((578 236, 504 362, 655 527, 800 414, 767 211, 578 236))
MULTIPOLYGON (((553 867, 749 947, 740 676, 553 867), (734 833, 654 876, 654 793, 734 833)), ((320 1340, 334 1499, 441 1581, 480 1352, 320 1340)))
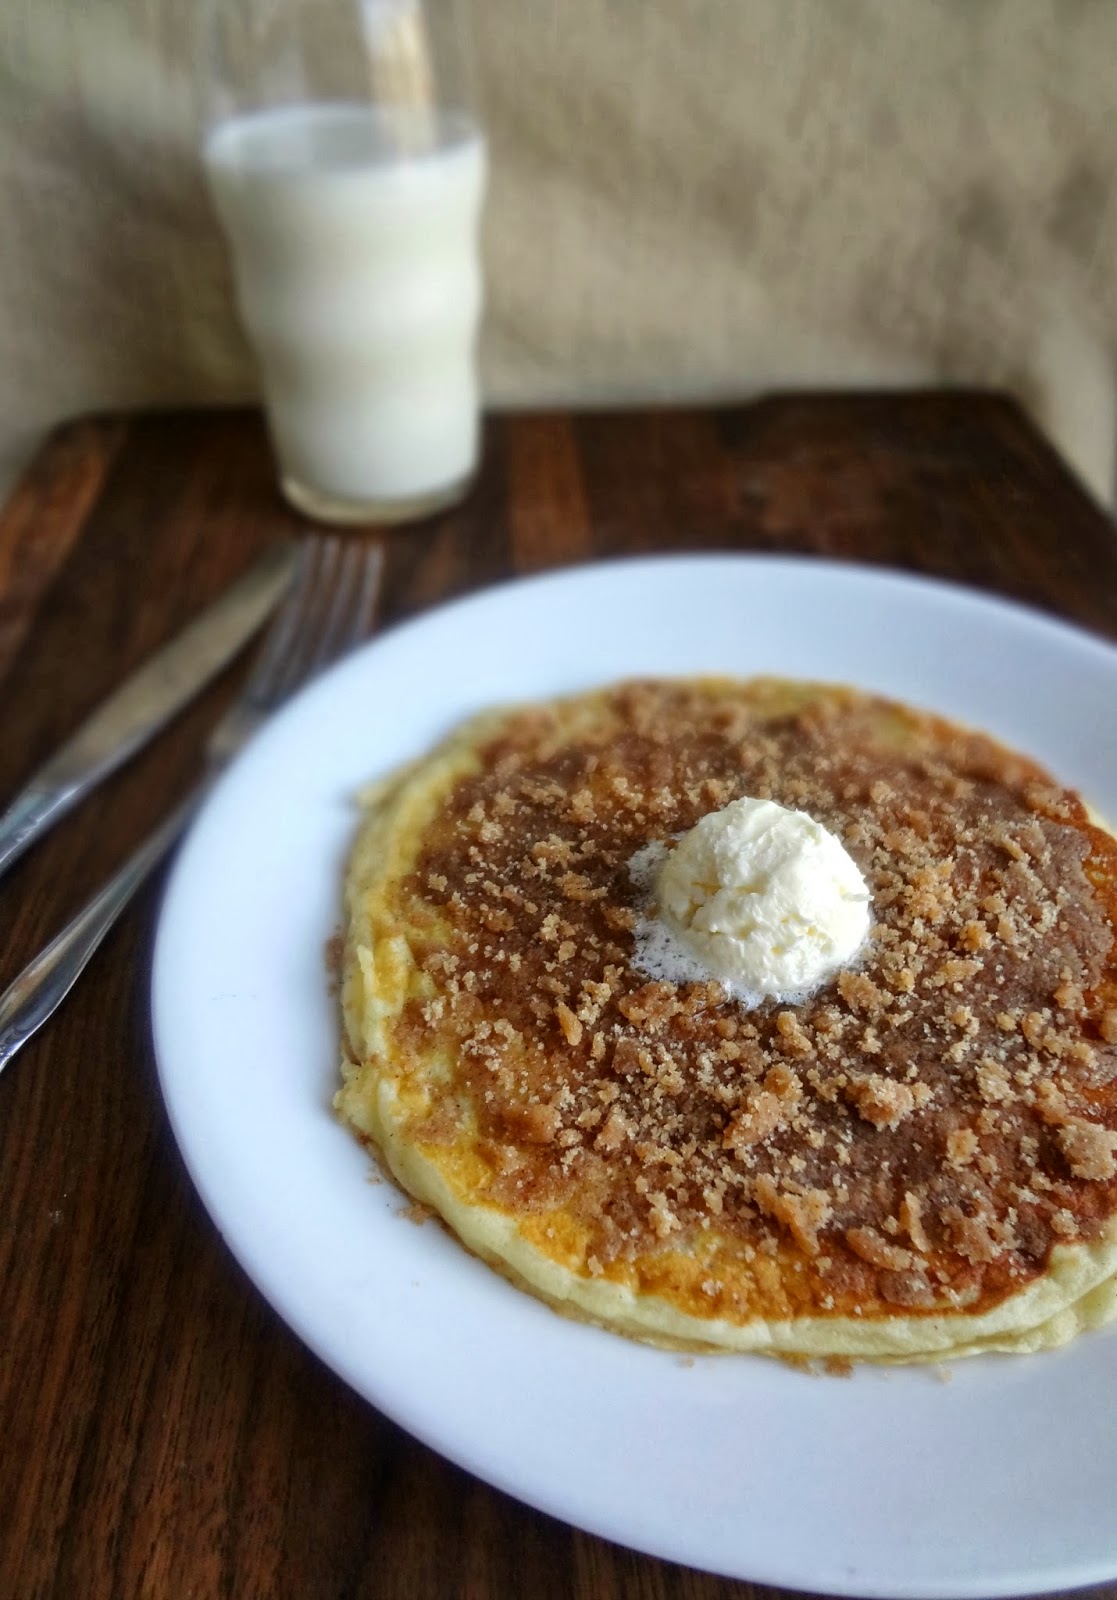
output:
POLYGON ((751 1005, 794 1000, 855 960, 869 888, 834 834, 773 800, 733 800, 672 848, 640 853, 655 915, 642 965, 675 981, 714 978, 751 1005), (658 856, 658 859, 656 859, 658 856))

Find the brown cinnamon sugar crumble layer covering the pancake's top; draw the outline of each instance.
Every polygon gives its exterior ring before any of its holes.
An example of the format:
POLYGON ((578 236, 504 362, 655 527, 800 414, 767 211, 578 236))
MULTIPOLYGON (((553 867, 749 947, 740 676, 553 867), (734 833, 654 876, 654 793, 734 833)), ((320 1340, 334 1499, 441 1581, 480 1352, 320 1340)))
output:
POLYGON ((453 934, 398 1027, 461 1040, 493 1200, 567 1205, 595 1275, 715 1221, 835 1314, 994 1304, 1117 1206, 1117 846, 979 734, 770 694, 512 718, 403 883, 453 934), (872 890, 863 965, 795 1006, 629 963, 627 861, 741 795, 807 810, 872 890))

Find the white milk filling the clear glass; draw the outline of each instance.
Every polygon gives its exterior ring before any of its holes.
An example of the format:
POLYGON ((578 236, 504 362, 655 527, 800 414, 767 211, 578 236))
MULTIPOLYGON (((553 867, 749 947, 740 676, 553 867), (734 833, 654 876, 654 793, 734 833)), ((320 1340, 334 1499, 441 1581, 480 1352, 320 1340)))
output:
POLYGON ((477 461, 485 144, 466 117, 323 104, 205 147, 288 494, 406 514, 477 461))

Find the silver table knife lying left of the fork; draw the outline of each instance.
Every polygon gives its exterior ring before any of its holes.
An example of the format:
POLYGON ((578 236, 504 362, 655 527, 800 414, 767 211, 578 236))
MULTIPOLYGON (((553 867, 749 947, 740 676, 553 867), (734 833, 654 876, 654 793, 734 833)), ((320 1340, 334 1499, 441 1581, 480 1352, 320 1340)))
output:
POLYGON ((294 546, 272 544, 178 638, 99 706, 0 816, 0 874, 144 746, 242 650, 286 589, 294 546))

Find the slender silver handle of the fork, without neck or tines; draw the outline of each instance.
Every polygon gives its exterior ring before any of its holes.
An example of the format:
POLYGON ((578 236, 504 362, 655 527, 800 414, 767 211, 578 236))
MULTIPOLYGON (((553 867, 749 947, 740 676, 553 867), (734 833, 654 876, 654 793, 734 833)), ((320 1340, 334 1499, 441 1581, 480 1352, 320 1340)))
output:
POLYGON ((46 949, 22 970, 11 987, 0 995, 0 1072, 35 1029, 54 1014, 109 928, 133 898, 139 885, 155 870, 202 798, 194 790, 160 826, 147 835, 109 878, 74 922, 51 939, 46 949))

